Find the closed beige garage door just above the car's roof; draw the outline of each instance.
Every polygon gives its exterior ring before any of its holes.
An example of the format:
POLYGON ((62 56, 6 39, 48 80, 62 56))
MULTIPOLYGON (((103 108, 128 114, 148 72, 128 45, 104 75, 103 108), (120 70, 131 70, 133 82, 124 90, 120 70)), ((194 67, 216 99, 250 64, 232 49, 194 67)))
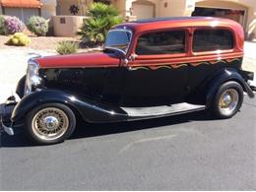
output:
POLYGON ((133 4, 133 15, 138 20, 154 18, 154 5, 133 4))

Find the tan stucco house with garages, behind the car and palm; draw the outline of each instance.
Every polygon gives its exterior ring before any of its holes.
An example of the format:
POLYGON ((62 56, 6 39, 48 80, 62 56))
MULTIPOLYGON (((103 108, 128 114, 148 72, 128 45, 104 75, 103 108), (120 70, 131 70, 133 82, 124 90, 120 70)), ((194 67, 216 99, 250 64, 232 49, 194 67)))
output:
POLYGON ((112 4, 127 20, 172 17, 213 16, 240 23, 248 35, 256 34, 255 0, 57 0, 57 15, 73 15, 70 7, 75 5, 75 15, 85 16, 94 2, 112 4))

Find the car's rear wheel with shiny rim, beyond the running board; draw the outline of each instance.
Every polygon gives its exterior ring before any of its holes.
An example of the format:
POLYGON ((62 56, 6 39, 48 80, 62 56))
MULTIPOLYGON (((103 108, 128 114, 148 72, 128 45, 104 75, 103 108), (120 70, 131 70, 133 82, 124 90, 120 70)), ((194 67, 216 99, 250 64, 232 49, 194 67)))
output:
POLYGON ((237 82, 224 83, 216 93, 212 109, 219 118, 230 118, 237 113, 243 102, 243 89, 237 82))

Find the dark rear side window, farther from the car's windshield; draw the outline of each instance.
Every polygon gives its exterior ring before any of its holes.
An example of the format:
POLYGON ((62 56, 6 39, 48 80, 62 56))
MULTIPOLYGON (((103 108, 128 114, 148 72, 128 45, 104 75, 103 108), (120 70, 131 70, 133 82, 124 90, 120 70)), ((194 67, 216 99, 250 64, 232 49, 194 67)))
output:
POLYGON ((233 34, 228 30, 197 30, 193 37, 193 51, 216 51, 233 48, 233 34))

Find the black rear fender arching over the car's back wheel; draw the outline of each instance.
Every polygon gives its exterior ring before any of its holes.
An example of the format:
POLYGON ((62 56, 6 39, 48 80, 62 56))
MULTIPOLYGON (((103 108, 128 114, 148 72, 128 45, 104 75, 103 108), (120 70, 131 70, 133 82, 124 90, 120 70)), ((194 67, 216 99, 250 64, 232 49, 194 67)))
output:
POLYGON ((243 91, 248 94, 249 97, 254 97, 252 90, 249 85, 245 82, 242 76, 233 69, 224 69, 220 71, 215 77, 211 79, 207 86, 206 102, 207 106, 210 106, 212 100, 218 91, 218 89, 228 81, 235 81, 241 85, 243 91))

